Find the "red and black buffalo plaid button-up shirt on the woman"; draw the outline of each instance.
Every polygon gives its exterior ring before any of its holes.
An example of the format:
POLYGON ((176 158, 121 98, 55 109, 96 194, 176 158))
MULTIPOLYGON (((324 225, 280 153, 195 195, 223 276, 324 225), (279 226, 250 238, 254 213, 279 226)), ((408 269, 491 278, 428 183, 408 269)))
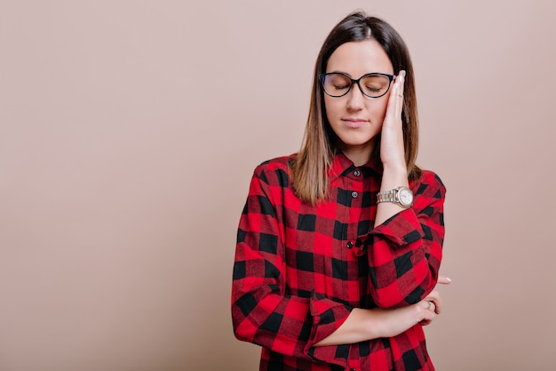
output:
POLYGON ((291 186, 288 161, 259 165, 237 236, 234 333, 263 347, 260 370, 433 370, 420 325, 392 338, 314 347, 353 308, 419 302, 436 284, 445 188, 424 171, 411 208, 374 228, 382 165, 338 154, 330 201, 311 206, 291 186))

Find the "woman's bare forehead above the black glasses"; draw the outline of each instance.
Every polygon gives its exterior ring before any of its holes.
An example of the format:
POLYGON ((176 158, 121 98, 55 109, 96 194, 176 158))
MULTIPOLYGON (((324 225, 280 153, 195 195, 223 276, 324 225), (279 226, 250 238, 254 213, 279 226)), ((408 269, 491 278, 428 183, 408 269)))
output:
POLYGON ((393 74, 393 67, 376 40, 364 40, 338 46, 330 55, 326 72, 346 72, 351 77, 360 77, 370 72, 393 74))

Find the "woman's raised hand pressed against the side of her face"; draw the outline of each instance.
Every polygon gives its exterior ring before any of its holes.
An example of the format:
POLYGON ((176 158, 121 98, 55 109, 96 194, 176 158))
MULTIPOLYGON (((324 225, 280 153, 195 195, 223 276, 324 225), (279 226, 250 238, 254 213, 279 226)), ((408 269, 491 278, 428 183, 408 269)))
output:
MULTIPOLYGON (((401 111, 403 109, 403 85, 405 71, 394 77, 392 90, 388 97, 385 119, 382 124, 380 139, 380 159, 385 167, 406 169, 405 148, 403 144, 403 130, 401 111)), ((407 169, 406 169, 407 171, 407 169)))

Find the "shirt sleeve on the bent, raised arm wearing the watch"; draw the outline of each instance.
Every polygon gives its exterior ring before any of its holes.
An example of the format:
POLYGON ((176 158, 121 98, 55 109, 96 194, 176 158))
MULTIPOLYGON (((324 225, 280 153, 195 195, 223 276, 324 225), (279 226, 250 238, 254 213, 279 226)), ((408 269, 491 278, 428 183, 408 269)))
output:
POLYGON ((414 304, 433 291, 444 241, 446 188, 432 172, 411 184, 414 203, 358 239, 369 257, 370 294, 379 307, 414 304))

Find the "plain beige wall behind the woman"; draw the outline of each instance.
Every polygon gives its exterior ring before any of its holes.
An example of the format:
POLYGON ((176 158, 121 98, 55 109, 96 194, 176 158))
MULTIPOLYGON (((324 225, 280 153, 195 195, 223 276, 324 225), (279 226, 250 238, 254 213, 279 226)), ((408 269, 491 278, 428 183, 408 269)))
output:
POLYGON ((449 189, 437 368, 553 369, 552 2, 2 0, 2 371, 257 369, 236 223, 355 8, 409 44, 419 163, 449 189))

